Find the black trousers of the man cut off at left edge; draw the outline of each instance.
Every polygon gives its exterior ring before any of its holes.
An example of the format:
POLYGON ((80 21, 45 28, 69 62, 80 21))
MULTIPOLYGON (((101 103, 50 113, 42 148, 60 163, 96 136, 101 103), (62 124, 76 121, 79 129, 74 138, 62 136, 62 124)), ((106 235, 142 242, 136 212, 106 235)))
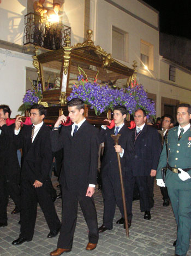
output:
POLYGON ((9 195, 16 207, 20 210, 20 188, 19 184, 7 180, 3 175, 0 177, 0 223, 7 224, 7 205, 9 195))

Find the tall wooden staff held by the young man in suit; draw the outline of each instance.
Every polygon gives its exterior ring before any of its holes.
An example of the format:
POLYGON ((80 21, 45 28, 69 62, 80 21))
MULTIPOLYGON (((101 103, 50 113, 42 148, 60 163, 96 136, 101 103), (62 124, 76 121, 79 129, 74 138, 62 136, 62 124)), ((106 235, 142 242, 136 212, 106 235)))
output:
MULTIPOLYGON (((117 135, 111 135, 111 138, 114 139, 115 145, 118 145, 118 139, 121 136, 121 134, 117 135)), ((118 161, 118 168, 120 172, 120 181, 121 181, 121 192, 122 192, 122 199, 123 199, 123 209, 124 209, 124 221, 126 223, 126 235, 129 237, 129 228, 128 228, 128 219, 127 219, 127 209, 126 209, 126 197, 124 195, 124 186, 123 186, 123 176, 122 176, 122 170, 121 170, 121 160, 120 160, 120 153, 117 153, 117 161, 118 161)))

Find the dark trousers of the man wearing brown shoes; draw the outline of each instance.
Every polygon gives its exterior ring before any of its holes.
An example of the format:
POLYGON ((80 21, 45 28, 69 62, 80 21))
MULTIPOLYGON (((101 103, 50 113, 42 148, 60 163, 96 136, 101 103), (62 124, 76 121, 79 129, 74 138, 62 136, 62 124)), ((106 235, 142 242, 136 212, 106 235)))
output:
POLYGON ((74 193, 62 185, 62 226, 57 248, 71 249, 77 222, 77 203, 85 217, 90 243, 98 242, 98 221, 93 197, 74 193))

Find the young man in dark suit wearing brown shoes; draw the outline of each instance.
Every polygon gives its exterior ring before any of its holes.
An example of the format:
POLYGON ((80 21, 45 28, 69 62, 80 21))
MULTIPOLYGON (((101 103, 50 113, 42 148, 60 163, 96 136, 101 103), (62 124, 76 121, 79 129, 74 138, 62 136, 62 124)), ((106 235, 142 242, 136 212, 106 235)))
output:
POLYGON ((97 183, 98 131, 83 117, 84 103, 79 98, 68 102, 70 126, 58 127, 67 120, 61 115, 53 131, 51 142, 53 152, 63 148, 63 165, 59 178, 62 185, 62 226, 57 249, 50 255, 70 252, 77 220, 77 202, 80 203, 89 233, 86 249, 93 250, 98 242, 97 213, 93 194, 97 183))

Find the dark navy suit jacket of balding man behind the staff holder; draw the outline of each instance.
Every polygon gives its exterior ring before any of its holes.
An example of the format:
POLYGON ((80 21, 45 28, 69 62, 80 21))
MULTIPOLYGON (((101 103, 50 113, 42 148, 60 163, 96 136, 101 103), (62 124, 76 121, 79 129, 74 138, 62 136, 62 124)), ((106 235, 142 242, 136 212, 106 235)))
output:
MULTIPOLYGON (((151 169, 157 170, 162 145, 156 128, 146 125, 135 141, 135 156, 132 162, 133 176, 148 176, 151 169)), ((135 129, 133 129, 135 140, 135 129)))

